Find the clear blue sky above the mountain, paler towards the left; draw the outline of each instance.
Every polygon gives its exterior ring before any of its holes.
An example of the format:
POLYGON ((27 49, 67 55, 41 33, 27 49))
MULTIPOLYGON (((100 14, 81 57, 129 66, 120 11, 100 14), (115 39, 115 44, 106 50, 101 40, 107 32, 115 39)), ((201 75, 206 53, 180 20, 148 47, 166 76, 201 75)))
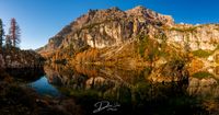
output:
POLYGON ((10 19, 21 27, 21 48, 36 49, 89 9, 122 10, 143 5, 170 14, 176 23, 218 23, 219 0, 0 0, 0 19, 8 33, 10 19))

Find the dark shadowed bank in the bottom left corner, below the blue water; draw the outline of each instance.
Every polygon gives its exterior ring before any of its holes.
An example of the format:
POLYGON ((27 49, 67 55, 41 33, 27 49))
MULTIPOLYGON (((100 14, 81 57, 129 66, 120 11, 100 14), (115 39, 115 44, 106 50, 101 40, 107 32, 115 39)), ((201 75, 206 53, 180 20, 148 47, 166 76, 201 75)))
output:
POLYGON ((72 99, 39 96, 16 83, 0 82, 0 115, 82 115, 72 99))

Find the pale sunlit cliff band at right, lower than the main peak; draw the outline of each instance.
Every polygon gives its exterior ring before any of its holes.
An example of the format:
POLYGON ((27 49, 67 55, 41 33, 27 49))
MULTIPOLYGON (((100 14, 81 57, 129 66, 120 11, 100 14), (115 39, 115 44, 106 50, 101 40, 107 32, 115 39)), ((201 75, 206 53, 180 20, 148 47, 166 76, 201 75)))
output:
POLYGON ((189 50, 215 50, 219 43, 219 25, 175 25, 166 32, 169 43, 187 47, 189 50))

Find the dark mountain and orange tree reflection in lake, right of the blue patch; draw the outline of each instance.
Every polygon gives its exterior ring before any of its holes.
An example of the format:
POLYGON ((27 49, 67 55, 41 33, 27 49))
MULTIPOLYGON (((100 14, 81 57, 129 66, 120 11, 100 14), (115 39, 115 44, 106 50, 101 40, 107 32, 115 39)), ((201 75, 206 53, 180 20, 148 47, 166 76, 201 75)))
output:
POLYGON ((76 65, 45 66, 49 83, 65 95, 72 96, 85 114, 92 114, 100 101, 119 103, 116 112, 99 114, 208 114, 203 100, 189 92, 188 82, 155 83, 148 81, 150 68, 125 70, 119 68, 76 65))

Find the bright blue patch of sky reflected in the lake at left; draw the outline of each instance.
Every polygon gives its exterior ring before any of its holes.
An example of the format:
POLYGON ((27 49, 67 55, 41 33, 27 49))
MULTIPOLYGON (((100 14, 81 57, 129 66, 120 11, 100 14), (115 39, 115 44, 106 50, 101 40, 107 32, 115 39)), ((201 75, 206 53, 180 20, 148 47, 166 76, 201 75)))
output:
POLYGON ((51 96, 59 96, 59 91, 54 88, 51 84, 48 83, 46 77, 42 77, 37 81, 27 84, 30 88, 33 88, 37 93, 42 95, 51 95, 51 96))

